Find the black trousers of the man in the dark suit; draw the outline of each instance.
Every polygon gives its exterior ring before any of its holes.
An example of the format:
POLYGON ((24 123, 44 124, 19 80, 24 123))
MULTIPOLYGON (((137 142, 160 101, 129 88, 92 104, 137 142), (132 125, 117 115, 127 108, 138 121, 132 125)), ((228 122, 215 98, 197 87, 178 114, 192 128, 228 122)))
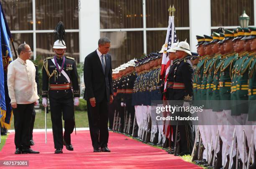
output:
POLYGON ((87 100, 88 121, 93 148, 108 146, 108 107, 109 103, 106 98, 103 101, 96 102, 92 107, 87 100))

